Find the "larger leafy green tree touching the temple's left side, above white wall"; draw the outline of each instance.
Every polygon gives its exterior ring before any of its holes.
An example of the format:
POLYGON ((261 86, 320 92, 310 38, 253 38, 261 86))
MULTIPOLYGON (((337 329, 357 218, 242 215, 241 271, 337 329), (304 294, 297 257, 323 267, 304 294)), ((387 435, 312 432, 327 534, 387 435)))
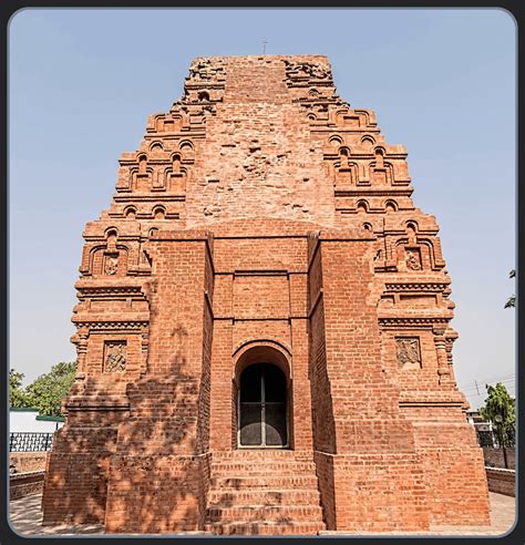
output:
POLYGON ((62 401, 73 384, 75 371, 74 361, 61 361, 35 379, 27 389, 32 407, 42 415, 61 415, 62 401))

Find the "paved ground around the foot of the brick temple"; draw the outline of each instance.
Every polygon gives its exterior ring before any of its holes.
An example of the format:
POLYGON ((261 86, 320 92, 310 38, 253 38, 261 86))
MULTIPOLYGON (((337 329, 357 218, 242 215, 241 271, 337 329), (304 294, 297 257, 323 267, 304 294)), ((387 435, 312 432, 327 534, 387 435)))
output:
MULTIPOLYGON (((516 503, 515 498, 504 496, 503 494, 490 493, 491 495, 491 518, 490 526, 435 526, 430 532, 412 532, 410 534, 389 533, 390 536, 395 535, 502 535, 506 534, 514 525, 514 515, 516 503)), ((103 534, 102 526, 96 524, 82 525, 60 525, 60 526, 42 526, 42 512, 40 504, 42 494, 34 494, 10 502, 10 522, 13 529, 23 536, 25 535, 75 535, 75 534, 103 534)), ((342 536, 340 532, 323 532, 323 535, 342 536)), ((352 535, 356 535, 353 533, 352 535)), ((359 533, 361 535, 363 533, 359 533)), ((382 535, 385 534, 370 534, 382 535)))

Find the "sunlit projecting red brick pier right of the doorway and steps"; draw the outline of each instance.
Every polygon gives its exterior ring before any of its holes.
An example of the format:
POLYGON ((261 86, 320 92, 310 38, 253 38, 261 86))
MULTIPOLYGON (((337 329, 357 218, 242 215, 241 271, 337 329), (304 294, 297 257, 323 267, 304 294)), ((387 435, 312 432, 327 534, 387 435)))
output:
MULTIPOLYGON (((318 251, 334 421, 333 528, 424 528, 426 491, 412 426, 399 414, 398 392, 381 369, 370 247, 364 240, 321 232, 318 251), (393 510, 402 510, 404 516, 389 516, 393 510)), ((325 486, 329 496, 331 483, 325 486)))

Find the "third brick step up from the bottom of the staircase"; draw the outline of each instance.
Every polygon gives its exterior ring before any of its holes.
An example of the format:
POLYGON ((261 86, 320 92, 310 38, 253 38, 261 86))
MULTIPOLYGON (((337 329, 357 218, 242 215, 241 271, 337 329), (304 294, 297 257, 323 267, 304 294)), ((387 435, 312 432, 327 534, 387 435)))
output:
POLYGON ((235 490, 213 489, 208 495, 208 505, 230 502, 231 506, 244 505, 319 505, 319 492, 310 490, 235 490))

